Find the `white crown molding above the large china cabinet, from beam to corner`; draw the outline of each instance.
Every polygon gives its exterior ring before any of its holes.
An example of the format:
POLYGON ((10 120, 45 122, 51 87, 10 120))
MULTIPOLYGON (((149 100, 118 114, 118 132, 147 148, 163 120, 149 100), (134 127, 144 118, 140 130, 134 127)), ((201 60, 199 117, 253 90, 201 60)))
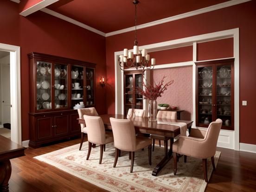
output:
POLYGON ((97 33, 97 34, 99 34, 99 35, 102 35, 102 36, 104 36, 104 37, 105 37, 105 35, 106 35, 104 32, 101 32, 101 31, 99 31, 99 30, 97 30, 97 29, 95 29, 95 28, 93 28, 93 27, 87 26, 87 25, 85 25, 85 24, 83 24, 83 23, 81 23, 81 22, 79 22, 79 21, 77 21, 77 20, 75 20, 75 19, 71 19, 70 17, 67 17, 67 16, 65 16, 65 15, 62 15, 62 14, 57 13, 57 12, 55 12, 55 11, 52 11, 51 9, 43 8, 43 9, 41 9, 40 11, 42 11, 42 12, 44 12, 44 13, 48 13, 48 14, 54 16, 54 17, 58 17, 59 19, 63 19, 63 20, 65 20, 65 21, 68 21, 68 22, 70 22, 70 23, 72 23, 72 24, 74 24, 74 25, 80 26, 80 27, 82 27, 82 28, 84 28, 84 29, 87 29, 87 30, 89 30, 89 31, 91 31, 91 32, 95 32, 95 33, 97 33))

